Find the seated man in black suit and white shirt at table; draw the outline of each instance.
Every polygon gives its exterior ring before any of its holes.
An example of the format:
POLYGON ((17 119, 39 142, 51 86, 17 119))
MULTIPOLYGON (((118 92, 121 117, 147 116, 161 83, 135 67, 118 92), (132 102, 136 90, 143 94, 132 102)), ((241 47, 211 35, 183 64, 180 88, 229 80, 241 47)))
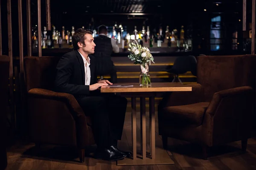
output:
POLYGON ((93 124, 93 134, 101 159, 116 161, 130 156, 119 150, 127 100, 114 94, 102 95, 99 88, 112 84, 97 80, 94 53, 95 43, 90 31, 79 28, 72 37, 74 51, 64 54, 58 62, 55 77, 56 91, 73 94, 93 124))

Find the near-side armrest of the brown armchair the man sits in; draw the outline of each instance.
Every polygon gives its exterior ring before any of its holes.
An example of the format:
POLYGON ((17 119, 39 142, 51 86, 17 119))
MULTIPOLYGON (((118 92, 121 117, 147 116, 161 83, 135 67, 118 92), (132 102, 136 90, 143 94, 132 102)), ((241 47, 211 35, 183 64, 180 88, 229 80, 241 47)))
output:
MULTIPOLYGON (((84 147, 90 143, 84 111, 73 95, 34 88, 28 91, 28 99, 32 135, 38 136, 36 133, 41 130, 41 133, 48 133, 45 136, 53 136, 55 139, 49 140, 58 144, 63 141, 64 144, 75 143, 84 147)), ((42 137, 40 140, 43 140, 42 137)))

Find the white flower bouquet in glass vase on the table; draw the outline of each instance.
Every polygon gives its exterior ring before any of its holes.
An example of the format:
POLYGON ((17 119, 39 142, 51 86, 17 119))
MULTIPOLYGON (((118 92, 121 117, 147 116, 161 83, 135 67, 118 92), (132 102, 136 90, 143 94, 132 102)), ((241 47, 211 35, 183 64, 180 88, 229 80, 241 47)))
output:
POLYGON ((134 61, 134 64, 140 64, 140 85, 151 85, 148 62, 154 62, 154 58, 149 49, 133 42, 129 43, 129 47, 128 51, 131 51, 131 54, 128 55, 128 58, 134 61))

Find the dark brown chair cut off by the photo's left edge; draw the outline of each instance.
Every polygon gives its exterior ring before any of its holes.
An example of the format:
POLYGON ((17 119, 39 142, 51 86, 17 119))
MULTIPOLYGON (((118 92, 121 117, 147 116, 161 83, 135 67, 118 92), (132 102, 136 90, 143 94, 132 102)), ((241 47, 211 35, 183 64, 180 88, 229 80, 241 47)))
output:
POLYGON ((6 120, 7 106, 9 99, 9 57, 0 56, 0 169, 3 170, 7 166, 6 155, 6 120))

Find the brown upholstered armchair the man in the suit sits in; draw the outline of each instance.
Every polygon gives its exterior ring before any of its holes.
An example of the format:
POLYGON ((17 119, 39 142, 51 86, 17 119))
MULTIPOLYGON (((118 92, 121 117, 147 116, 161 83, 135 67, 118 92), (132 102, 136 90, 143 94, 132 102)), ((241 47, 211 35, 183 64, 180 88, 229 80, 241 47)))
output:
POLYGON ((90 118, 75 97, 53 91, 59 57, 25 57, 29 136, 35 144, 76 146, 84 162, 84 148, 95 144, 90 118))

